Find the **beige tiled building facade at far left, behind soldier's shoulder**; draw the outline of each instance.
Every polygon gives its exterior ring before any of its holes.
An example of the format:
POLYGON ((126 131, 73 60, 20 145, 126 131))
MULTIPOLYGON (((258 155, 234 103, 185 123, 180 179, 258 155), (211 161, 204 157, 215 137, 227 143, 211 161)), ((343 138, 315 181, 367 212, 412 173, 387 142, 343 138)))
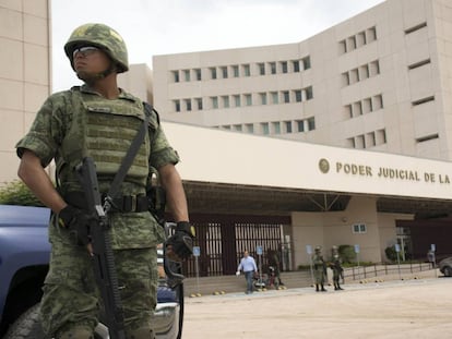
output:
POLYGON ((14 145, 50 94, 48 0, 0 1, 0 184, 17 178, 14 145))

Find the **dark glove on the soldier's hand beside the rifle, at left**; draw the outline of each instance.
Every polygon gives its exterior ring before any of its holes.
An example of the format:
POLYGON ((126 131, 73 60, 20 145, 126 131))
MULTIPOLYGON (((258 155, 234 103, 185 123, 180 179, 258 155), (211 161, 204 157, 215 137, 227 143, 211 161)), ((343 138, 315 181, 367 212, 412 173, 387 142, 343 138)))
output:
POLYGON ((71 205, 66 206, 58 215, 58 223, 69 230, 79 245, 87 245, 90 238, 90 216, 71 205))

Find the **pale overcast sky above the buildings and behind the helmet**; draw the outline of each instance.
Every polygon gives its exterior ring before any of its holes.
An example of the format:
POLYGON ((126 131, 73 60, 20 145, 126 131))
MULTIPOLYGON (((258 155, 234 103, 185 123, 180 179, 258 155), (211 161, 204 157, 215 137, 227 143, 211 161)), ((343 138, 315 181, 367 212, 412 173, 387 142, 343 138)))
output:
POLYGON ((85 23, 126 40, 129 63, 192 51, 302 41, 383 0, 52 0, 52 92, 80 84, 63 46, 85 23))

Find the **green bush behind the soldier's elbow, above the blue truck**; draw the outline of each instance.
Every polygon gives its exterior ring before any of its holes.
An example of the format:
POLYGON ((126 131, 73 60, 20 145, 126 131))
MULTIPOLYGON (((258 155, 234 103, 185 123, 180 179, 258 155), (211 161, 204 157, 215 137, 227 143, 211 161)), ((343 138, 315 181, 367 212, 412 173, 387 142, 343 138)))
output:
POLYGON ((0 187, 0 205, 44 206, 20 180, 14 180, 0 187))

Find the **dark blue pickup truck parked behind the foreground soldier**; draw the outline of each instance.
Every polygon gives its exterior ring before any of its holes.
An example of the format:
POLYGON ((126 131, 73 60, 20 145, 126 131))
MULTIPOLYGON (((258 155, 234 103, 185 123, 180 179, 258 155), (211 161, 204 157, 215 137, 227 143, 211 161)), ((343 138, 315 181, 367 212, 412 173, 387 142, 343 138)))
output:
MULTIPOLYGON (((45 207, 0 205, 0 338, 41 339, 38 311, 41 287, 48 270, 50 244, 45 207)), ((167 228, 167 226, 166 226, 167 228)), ((167 234, 168 230, 166 229, 167 234)), ((183 324, 183 283, 177 263, 164 261, 155 314, 157 339, 180 339, 183 324)), ((99 323, 96 339, 108 339, 99 323)))

